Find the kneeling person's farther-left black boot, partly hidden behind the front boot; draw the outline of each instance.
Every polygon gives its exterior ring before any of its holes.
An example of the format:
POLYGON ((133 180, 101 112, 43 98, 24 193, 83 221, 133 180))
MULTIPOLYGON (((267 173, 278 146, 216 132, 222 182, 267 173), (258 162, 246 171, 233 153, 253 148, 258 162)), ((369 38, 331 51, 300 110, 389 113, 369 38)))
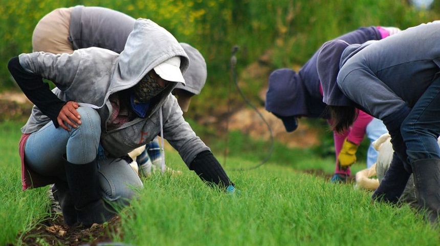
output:
POLYGON ((52 194, 59 203, 64 223, 70 227, 75 226, 78 223, 77 212, 68 184, 62 181, 56 182, 52 187, 52 194))

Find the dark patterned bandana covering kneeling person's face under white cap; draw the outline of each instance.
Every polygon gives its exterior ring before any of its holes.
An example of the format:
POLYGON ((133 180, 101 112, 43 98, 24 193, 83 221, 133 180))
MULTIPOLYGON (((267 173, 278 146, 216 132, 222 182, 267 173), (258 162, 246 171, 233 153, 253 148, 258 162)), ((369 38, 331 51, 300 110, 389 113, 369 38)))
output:
POLYGON ((144 104, 157 96, 165 87, 161 87, 150 73, 147 73, 136 86, 133 87, 134 103, 144 104))

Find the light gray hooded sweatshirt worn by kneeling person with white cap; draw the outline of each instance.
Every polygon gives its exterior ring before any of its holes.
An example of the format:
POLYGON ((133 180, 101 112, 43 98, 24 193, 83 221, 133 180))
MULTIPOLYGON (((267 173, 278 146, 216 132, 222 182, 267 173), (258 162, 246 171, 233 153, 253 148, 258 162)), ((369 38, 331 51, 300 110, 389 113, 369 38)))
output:
MULTIPOLYGON (((150 105, 152 109, 145 118, 135 118, 118 129, 106 130, 112 114, 108 97, 135 86, 150 70, 174 56, 181 57, 180 68, 184 73, 189 59, 174 36, 151 20, 139 18, 121 54, 91 47, 72 54, 21 54, 19 61, 26 71, 53 81, 57 86, 53 92, 60 99, 74 100, 98 110, 101 145, 107 153, 116 157, 126 155, 155 138, 163 127, 163 137, 189 165, 198 153, 209 148, 184 120, 177 99, 170 94, 177 83, 171 83, 158 103, 150 105)), ((48 122, 49 117, 34 106, 21 131, 35 132, 48 122)))

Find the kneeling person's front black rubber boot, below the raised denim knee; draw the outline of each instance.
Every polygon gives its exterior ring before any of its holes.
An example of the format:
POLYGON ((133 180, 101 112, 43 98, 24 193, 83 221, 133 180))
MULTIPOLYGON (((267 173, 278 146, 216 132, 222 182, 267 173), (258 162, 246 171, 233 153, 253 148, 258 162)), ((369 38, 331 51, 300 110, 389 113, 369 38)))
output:
POLYGON ((65 162, 69 190, 75 204, 77 221, 84 226, 108 221, 116 212, 102 200, 97 180, 97 161, 85 164, 65 162))

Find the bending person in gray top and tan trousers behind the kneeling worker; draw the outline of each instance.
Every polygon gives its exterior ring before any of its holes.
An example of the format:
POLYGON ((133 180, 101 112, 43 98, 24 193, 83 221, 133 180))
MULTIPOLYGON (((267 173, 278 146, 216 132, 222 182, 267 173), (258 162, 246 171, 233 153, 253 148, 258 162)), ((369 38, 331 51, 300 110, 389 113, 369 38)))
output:
MULTIPOLYGON (((42 17, 32 34, 33 51, 54 54, 73 53, 76 49, 100 47, 121 53, 127 37, 133 30, 135 18, 103 7, 78 5, 57 8, 42 17)), ((207 77, 206 62, 202 54, 186 43, 180 43, 190 59, 184 74, 185 85, 179 83, 172 94, 178 99, 183 112, 187 112, 191 97, 200 94, 207 77)), ((147 176, 153 168, 167 170, 158 138, 145 146, 135 158, 140 174, 147 176)))

